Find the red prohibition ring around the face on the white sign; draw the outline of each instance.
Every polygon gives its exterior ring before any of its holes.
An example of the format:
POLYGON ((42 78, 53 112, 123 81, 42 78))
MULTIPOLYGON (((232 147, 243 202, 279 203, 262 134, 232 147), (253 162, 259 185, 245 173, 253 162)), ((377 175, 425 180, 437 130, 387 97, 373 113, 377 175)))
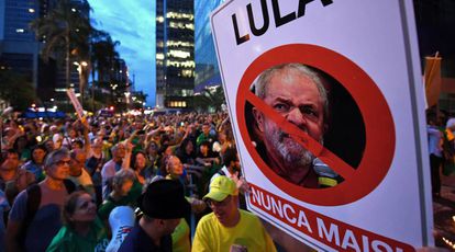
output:
MULTIPOLYGON (((235 105, 240 133, 253 161, 271 183, 299 201, 321 206, 348 204, 373 192, 389 171, 396 146, 389 106, 371 78, 348 58, 333 50, 315 45, 289 44, 264 53, 244 72, 235 105), (358 167, 348 171, 346 174, 349 175, 343 176, 345 181, 334 187, 306 188, 280 177, 259 157, 248 134, 245 105, 252 98, 252 83, 264 70, 290 62, 308 65, 332 76, 347 90, 362 113, 366 136, 364 154, 358 167)), ((346 148, 349 148, 348 145, 346 148)))

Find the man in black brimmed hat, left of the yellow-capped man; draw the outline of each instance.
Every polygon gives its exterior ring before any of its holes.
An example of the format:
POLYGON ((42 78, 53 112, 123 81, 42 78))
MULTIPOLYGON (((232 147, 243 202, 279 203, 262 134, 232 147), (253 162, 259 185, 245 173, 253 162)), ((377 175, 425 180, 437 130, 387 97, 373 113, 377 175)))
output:
POLYGON ((181 183, 174 180, 153 182, 138 204, 143 216, 119 251, 171 251, 170 233, 190 211, 181 183))

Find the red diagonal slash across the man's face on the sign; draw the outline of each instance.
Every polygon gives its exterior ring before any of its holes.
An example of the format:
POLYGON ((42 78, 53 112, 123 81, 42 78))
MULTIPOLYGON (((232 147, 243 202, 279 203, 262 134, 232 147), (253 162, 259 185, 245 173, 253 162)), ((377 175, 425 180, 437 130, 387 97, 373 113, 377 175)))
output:
POLYGON ((321 144, 310 137, 307 133, 302 131, 296 125, 289 123, 285 117, 278 114, 274 108, 267 105, 263 100, 256 96, 252 92, 246 92, 246 98, 257 110, 264 115, 274 121, 279 127, 299 145, 303 146, 315 157, 321 159, 332 170, 336 171, 344 180, 349 180, 354 176, 355 169, 347 164, 343 159, 332 153, 330 150, 324 148, 321 144))

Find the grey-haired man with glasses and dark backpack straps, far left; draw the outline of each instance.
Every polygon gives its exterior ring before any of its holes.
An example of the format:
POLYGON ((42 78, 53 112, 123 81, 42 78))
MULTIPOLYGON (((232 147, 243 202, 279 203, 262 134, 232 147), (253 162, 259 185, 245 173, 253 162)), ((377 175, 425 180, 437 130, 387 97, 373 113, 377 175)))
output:
POLYGON ((44 163, 46 179, 18 195, 7 227, 7 251, 46 250, 62 227, 64 201, 75 188, 66 181, 69 161, 67 149, 49 153, 44 163))

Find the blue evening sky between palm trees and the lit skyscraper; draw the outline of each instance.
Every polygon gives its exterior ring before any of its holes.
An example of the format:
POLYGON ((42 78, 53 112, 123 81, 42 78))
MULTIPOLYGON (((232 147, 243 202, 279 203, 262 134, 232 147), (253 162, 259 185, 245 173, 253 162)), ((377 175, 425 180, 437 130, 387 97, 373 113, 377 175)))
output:
POLYGON ((92 24, 108 32, 120 57, 126 61, 135 90, 144 91, 147 105, 155 105, 155 1, 89 0, 92 24))

